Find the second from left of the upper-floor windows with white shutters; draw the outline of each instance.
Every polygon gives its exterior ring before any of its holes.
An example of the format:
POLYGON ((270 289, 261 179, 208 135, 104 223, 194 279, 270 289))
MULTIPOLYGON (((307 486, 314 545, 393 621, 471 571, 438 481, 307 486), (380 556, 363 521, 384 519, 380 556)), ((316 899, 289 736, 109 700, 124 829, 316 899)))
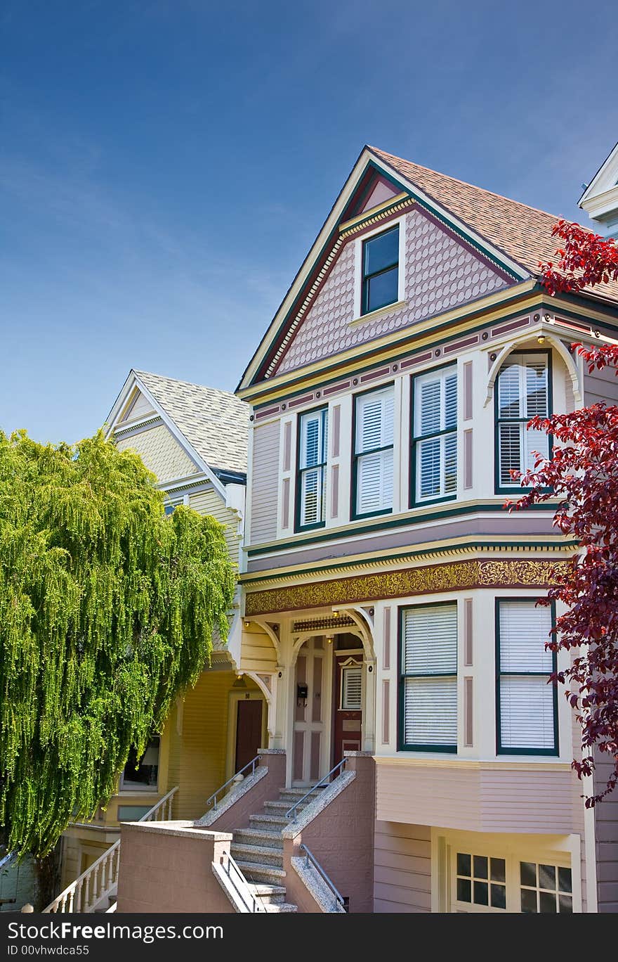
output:
POLYGON ((392 385, 358 394, 355 417, 355 517, 393 510, 392 385))

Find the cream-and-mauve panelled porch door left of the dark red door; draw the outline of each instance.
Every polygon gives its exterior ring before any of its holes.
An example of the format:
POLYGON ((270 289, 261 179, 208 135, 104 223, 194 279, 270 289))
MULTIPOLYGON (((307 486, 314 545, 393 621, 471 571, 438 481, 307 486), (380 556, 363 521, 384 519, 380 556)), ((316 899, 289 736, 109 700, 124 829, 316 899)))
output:
POLYGON ((309 638, 296 660, 293 785, 316 782, 329 768, 331 649, 323 637, 309 638))

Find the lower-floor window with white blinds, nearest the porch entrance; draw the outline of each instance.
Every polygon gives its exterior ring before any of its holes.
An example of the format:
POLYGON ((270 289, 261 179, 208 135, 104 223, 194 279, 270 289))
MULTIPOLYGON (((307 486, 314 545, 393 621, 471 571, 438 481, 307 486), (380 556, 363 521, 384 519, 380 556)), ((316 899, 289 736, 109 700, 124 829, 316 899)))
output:
POLYGON ((457 751, 457 602, 402 612, 400 747, 457 751))

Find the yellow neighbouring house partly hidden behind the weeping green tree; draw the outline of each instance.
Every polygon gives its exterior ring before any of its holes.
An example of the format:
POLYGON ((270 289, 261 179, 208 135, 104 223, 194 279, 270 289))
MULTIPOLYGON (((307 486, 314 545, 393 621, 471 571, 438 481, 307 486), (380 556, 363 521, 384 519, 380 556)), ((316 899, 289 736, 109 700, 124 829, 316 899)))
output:
MULTIPOLYGON (((186 504, 225 524, 236 565, 248 425, 249 407, 232 393, 137 370, 130 371, 108 417, 108 436, 120 449, 135 450, 157 475, 165 512, 186 504)), ((167 817, 198 818, 211 793, 268 743, 277 659, 266 631, 253 622, 247 628, 236 601, 227 644, 215 639, 210 665, 177 700, 137 767, 130 758, 107 807, 64 832, 62 889, 118 840, 119 822, 137 821, 158 804, 167 817), (264 670, 270 673, 260 676, 264 670)))

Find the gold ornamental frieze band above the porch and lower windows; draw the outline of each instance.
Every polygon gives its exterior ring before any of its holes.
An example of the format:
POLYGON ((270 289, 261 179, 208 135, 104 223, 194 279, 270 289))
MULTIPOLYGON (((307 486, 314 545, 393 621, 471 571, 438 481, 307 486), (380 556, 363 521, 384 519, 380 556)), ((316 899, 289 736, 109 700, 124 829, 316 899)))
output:
POLYGON ((334 604, 378 601, 408 595, 470 591, 473 588, 547 588, 550 570, 565 571, 569 562, 552 558, 502 561, 456 561, 351 578, 335 578, 304 585, 289 585, 248 592, 245 615, 323 608, 334 604))

